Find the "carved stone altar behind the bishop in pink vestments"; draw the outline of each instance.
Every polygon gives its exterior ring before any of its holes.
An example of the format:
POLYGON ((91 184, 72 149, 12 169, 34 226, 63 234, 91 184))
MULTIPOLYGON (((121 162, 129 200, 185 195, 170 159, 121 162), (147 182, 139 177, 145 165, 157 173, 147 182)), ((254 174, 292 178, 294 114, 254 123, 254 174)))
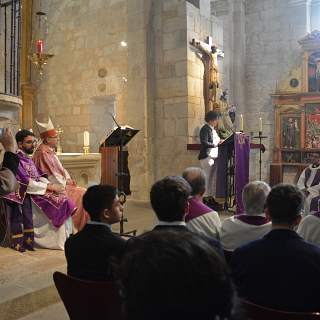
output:
POLYGON ((87 189, 90 185, 100 183, 100 153, 62 153, 58 158, 79 187, 87 189))

